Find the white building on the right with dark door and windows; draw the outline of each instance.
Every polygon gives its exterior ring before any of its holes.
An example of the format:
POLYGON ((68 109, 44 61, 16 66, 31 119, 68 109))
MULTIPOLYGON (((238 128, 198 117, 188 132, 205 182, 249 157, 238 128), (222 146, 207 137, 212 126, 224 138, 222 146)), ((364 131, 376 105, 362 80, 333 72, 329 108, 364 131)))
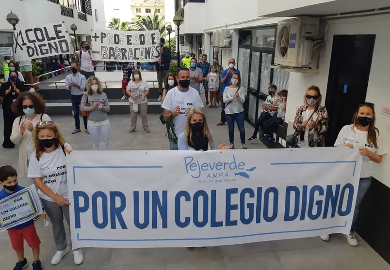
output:
MULTIPOLYGON (((332 146, 341 127, 351 123, 357 105, 374 103, 376 126, 390 149, 390 76, 386 65, 390 3, 386 0, 177 0, 184 17, 180 34, 198 57, 217 56, 227 68, 235 58, 248 88, 246 120, 253 124, 270 83, 289 90, 285 123, 276 137, 285 146, 292 134, 296 109, 308 86, 319 86, 329 113, 326 145, 332 146), (301 15, 319 18, 322 44, 311 70, 279 69, 275 64, 277 24, 301 15), (217 35, 217 36, 215 36, 217 35)), ((291 45, 291 44, 290 44, 291 45)), ((295 46, 295 45, 294 45, 295 46)), ((314 48, 314 47, 313 47, 314 48)), ((312 55, 312 57, 314 57, 312 55)), ((390 263, 390 157, 375 165, 372 186, 361 206, 358 233, 390 263), (386 236, 386 237, 384 237, 386 236)))

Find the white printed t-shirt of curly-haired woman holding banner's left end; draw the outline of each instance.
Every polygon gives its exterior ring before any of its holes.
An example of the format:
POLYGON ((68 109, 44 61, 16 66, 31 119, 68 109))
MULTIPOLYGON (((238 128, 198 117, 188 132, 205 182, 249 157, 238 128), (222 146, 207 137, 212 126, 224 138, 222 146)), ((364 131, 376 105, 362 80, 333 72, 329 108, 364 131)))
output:
MULTIPOLYGON (((61 147, 50 153, 43 153, 36 159, 33 151, 30 159, 29 178, 42 178, 43 183, 55 194, 68 197, 68 185, 66 178, 66 156, 61 147)), ((38 195, 47 201, 53 201, 48 195, 38 189, 38 195)))

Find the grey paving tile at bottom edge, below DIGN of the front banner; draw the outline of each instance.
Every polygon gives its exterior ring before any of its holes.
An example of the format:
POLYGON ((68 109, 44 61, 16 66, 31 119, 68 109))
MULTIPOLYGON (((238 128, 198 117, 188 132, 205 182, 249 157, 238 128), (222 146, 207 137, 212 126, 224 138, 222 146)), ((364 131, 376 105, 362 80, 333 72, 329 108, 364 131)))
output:
POLYGON ((339 270, 325 247, 276 252, 285 270, 339 270))

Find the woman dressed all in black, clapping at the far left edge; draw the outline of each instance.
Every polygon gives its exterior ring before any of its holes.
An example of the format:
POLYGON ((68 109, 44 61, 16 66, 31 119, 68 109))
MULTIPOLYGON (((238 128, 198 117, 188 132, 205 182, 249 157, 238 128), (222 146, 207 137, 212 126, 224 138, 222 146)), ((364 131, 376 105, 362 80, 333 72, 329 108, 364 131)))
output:
POLYGON ((12 111, 12 104, 20 93, 26 89, 24 82, 18 79, 16 71, 10 71, 8 81, 1 84, 0 96, 3 97, 2 108, 4 118, 4 142, 3 148, 14 148, 15 144, 11 141, 12 125, 17 115, 12 111))

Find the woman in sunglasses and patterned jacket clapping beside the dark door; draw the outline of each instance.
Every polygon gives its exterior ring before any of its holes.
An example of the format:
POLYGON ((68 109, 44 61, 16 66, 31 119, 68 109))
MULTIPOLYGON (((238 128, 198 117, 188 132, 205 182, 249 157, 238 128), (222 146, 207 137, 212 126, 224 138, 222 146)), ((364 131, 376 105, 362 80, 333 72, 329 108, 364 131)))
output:
POLYGON ((318 86, 311 85, 304 95, 304 104, 296 111, 292 127, 295 144, 303 147, 324 147, 328 129, 328 112, 321 106, 322 95, 318 86))

